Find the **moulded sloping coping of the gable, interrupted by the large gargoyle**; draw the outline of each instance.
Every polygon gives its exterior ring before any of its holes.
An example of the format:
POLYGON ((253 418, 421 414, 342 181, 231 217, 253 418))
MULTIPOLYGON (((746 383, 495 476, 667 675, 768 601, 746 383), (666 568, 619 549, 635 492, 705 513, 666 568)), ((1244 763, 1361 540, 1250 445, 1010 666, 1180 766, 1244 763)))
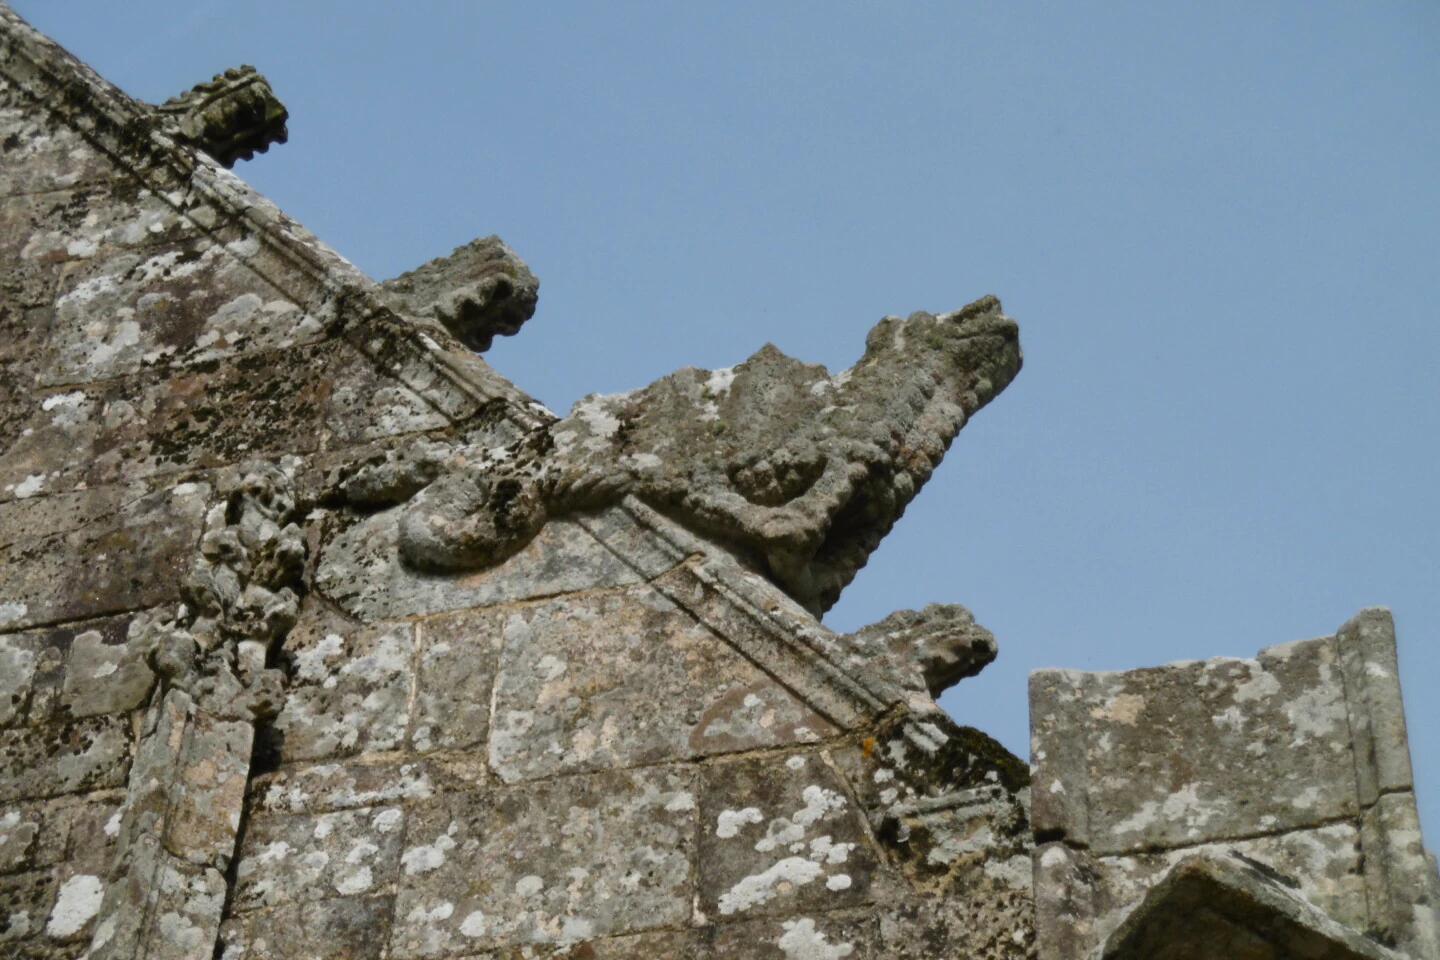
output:
MULTIPOLYGON (((179 180, 253 230, 287 266, 336 298, 341 305, 343 335, 351 345, 452 423, 469 420, 482 407, 503 410, 521 430, 554 419, 439 324, 396 314, 376 281, 203 151, 167 135, 151 105, 105 81, 26 23, 4 0, 0 0, 0 75, 36 108, 55 112, 55 107, 66 107, 65 122, 157 196, 164 197, 179 180)), ((284 278, 266 279, 287 296, 301 299, 298 291, 287 289, 284 278)), ((606 550, 838 727, 852 730, 906 699, 884 676, 835 662, 824 651, 824 640, 835 635, 723 548, 700 540, 634 495, 625 497, 612 515, 616 512, 628 518, 624 530, 586 524, 606 550), (667 571, 683 573, 667 583, 661 576, 667 571), (704 599, 697 600, 700 594, 704 599)), ((910 733, 920 740, 932 738, 923 730, 929 724, 907 727, 914 727, 910 733)))

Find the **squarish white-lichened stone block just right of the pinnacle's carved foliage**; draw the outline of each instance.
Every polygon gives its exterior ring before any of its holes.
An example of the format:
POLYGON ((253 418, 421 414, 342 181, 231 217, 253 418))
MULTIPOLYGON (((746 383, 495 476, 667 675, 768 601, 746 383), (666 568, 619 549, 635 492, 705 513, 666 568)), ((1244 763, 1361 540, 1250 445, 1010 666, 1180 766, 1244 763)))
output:
POLYGON ((310 599, 285 638, 291 682, 272 724, 285 761, 395 750, 409 730, 409 623, 360 625, 310 599))

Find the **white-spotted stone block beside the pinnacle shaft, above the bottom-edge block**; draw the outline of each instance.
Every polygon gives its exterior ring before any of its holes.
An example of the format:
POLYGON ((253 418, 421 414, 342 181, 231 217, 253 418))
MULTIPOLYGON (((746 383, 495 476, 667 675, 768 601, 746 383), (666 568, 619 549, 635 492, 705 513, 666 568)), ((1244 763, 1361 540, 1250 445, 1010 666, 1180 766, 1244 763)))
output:
POLYGON ((397 806, 251 819, 230 910, 245 913, 387 889, 400 861, 397 806))

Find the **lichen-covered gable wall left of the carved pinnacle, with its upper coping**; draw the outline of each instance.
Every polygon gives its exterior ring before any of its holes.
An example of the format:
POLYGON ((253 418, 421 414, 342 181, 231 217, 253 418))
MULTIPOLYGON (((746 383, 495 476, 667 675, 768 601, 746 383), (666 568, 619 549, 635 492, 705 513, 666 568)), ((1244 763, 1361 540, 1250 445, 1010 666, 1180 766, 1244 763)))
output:
MULTIPOLYGON (((163 721, 145 628, 238 465, 312 504, 334 462, 508 387, 347 301, 353 268, 6 7, 0 42, 0 953, 68 957, 163 721)), ((240 753, 197 776, 243 796, 240 753)))

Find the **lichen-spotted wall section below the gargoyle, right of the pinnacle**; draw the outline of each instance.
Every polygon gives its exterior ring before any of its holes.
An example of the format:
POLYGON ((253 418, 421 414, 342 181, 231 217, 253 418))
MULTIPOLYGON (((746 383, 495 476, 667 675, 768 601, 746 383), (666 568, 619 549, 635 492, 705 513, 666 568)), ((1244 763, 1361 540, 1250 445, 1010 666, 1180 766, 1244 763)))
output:
POLYGON ((425 576, 396 512, 287 640, 226 957, 1028 956, 1022 764, 772 584, 635 502, 425 576))

